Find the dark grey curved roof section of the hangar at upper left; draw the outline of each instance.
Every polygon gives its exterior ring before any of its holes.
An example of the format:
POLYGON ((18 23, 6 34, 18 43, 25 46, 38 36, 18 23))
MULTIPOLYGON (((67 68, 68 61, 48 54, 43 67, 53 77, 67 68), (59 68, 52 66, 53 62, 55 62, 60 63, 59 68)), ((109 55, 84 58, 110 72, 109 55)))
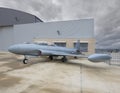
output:
POLYGON ((24 11, 0 7, 0 26, 43 22, 37 16, 24 11))

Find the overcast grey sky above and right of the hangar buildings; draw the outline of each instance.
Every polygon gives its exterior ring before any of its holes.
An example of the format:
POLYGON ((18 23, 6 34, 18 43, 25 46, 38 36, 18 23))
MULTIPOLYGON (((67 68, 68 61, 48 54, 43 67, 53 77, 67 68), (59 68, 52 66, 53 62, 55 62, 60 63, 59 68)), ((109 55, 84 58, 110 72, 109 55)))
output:
POLYGON ((99 48, 120 48, 120 0, 0 0, 43 21, 94 18, 99 48))

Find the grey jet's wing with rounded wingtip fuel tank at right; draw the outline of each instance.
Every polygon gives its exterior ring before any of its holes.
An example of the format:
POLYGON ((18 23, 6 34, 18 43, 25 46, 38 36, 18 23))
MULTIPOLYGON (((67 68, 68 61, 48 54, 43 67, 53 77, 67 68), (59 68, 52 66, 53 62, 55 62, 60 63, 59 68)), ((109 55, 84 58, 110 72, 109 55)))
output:
POLYGON ((51 50, 40 50, 43 55, 53 55, 53 56, 71 56, 78 58, 88 58, 89 61, 92 62, 104 62, 106 60, 110 60, 112 57, 109 54, 92 54, 92 55, 82 55, 82 54, 72 54, 61 51, 51 51, 51 50))

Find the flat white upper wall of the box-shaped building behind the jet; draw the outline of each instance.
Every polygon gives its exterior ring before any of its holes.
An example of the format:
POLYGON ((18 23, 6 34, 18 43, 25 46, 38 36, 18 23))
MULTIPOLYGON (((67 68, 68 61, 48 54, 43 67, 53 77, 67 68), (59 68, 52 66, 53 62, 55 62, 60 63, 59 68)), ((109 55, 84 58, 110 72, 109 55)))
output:
POLYGON ((94 38, 94 20, 46 22, 14 26, 15 43, 31 42, 35 38, 94 38))

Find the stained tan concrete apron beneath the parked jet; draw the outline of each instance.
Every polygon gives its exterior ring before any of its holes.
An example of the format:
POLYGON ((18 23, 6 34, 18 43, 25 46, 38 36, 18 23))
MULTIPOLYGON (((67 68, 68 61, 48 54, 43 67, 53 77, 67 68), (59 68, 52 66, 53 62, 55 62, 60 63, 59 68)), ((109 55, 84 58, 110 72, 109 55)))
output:
POLYGON ((120 66, 0 53, 0 93, 120 93, 120 66))

